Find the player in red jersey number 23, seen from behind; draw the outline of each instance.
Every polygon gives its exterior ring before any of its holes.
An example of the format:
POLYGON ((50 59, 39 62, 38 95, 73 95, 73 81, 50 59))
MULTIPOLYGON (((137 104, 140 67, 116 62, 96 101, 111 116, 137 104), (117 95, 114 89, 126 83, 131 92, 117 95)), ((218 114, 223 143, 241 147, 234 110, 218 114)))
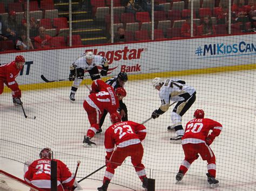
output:
POLYGON ((114 169, 122 165, 126 157, 131 157, 132 165, 135 168, 143 188, 147 188, 147 176, 145 166, 142 164, 143 146, 142 140, 146 137, 144 125, 132 121, 121 121, 118 112, 110 116, 112 125, 105 132, 106 148, 106 172, 102 187, 98 190, 105 191, 114 176, 114 169), (116 148, 114 148, 116 146, 116 148))

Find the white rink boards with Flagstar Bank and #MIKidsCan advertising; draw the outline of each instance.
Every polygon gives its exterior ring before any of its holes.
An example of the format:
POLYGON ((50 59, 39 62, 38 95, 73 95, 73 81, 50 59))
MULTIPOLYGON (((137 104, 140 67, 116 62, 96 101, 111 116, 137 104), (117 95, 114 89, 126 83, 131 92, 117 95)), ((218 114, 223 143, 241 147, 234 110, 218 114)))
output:
MULTIPOLYGON (((84 52, 92 51, 109 60, 109 76, 126 72, 128 75, 168 73, 229 66, 253 65, 255 62, 255 34, 214 38, 151 41, 93 47, 48 49, 21 53, 0 54, 0 64, 23 55, 25 65, 17 81, 19 84, 43 83, 68 79, 69 66, 84 52)), ((144 75, 145 76, 145 75, 144 75)))

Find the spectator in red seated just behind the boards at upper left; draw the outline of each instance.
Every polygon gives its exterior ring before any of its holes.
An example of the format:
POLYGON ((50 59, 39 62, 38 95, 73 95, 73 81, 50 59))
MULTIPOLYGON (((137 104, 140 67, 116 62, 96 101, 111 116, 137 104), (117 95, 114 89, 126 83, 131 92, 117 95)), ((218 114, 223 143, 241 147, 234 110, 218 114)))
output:
POLYGON ((51 48, 52 37, 48 34, 45 34, 45 27, 41 26, 38 29, 39 36, 35 37, 35 48, 51 48))

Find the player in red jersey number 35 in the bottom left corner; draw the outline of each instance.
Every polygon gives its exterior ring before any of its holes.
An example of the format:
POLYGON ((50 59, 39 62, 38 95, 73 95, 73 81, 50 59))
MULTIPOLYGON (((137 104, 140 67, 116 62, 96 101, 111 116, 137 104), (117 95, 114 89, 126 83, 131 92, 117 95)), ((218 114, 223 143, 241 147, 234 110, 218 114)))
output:
POLYGON ((51 159, 50 148, 43 148, 39 153, 40 159, 24 167, 24 180, 45 191, 51 190, 51 160, 57 161, 57 186, 60 190, 72 190, 75 179, 69 168, 60 160, 51 159))

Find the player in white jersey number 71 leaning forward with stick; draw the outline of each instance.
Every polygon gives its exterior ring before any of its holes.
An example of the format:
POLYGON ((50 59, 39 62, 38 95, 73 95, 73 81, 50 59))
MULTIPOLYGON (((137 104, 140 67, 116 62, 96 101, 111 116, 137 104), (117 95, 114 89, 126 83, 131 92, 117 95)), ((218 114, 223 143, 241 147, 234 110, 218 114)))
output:
POLYGON ((173 125, 168 126, 167 129, 175 130, 177 133, 177 137, 173 137, 170 140, 180 140, 184 135, 181 119, 194 101, 196 101, 196 90, 191 86, 187 86, 185 81, 180 79, 167 79, 164 81, 160 77, 156 77, 153 79, 152 84, 154 88, 159 90, 161 106, 158 110, 154 110, 151 117, 155 119, 164 114, 170 107, 170 101, 177 102, 171 112, 173 125))

